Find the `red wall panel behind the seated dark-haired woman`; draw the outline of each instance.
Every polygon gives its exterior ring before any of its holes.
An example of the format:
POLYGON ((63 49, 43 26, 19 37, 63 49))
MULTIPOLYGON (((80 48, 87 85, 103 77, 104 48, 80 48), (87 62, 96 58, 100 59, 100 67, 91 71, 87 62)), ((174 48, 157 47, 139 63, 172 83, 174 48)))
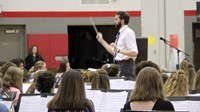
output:
POLYGON ((56 56, 68 56, 67 34, 28 34, 27 38, 28 53, 32 46, 37 46, 47 68, 58 68, 60 62, 55 60, 56 56))

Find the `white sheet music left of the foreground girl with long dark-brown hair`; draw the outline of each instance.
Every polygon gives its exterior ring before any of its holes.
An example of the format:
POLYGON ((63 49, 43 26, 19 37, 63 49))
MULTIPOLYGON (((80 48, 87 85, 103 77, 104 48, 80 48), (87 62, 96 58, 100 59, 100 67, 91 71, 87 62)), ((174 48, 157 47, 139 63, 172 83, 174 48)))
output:
POLYGON ((37 96, 23 96, 21 98, 19 112, 47 112, 47 103, 53 96, 41 97, 37 96))

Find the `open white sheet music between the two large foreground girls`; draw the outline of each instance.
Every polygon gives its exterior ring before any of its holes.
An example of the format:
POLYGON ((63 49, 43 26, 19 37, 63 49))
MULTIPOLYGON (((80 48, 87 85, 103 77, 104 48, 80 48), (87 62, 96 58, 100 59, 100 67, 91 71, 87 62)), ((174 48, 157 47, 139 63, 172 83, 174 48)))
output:
POLYGON ((128 93, 86 90, 86 95, 94 103, 96 112, 119 112, 126 103, 128 93))

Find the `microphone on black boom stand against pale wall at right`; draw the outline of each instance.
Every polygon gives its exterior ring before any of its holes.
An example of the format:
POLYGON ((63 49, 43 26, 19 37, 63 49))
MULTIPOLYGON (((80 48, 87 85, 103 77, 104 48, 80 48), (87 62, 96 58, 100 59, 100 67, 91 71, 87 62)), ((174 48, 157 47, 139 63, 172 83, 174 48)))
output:
POLYGON ((178 69, 179 69, 179 53, 181 52, 181 53, 185 54, 186 56, 190 56, 190 55, 187 54, 186 52, 184 52, 184 51, 182 51, 182 50, 176 48, 175 46, 171 45, 171 44, 170 44, 170 41, 168 41, 168 40, 166 40, 166 39, 163 39, 163 38, 162 38, 161 40, 163 40, 163 42, 164 42, 165 44, 167 44, 167 45, 169 45, 170 47, 172 47, 172 48, 174 48, 174 49, 177 50, 178 64, 176 65, 176 69, 178 70, 178 69))

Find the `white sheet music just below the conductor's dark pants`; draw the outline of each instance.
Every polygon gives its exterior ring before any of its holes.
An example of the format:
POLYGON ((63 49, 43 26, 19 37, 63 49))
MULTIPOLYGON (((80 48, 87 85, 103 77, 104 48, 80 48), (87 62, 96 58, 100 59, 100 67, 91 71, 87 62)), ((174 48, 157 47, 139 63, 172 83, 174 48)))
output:
POLYGON ((111 89, 133 90, 133 88, 135 87, 135 81, 124 81, 124 79, 110 79, 110 87, 111 89))

